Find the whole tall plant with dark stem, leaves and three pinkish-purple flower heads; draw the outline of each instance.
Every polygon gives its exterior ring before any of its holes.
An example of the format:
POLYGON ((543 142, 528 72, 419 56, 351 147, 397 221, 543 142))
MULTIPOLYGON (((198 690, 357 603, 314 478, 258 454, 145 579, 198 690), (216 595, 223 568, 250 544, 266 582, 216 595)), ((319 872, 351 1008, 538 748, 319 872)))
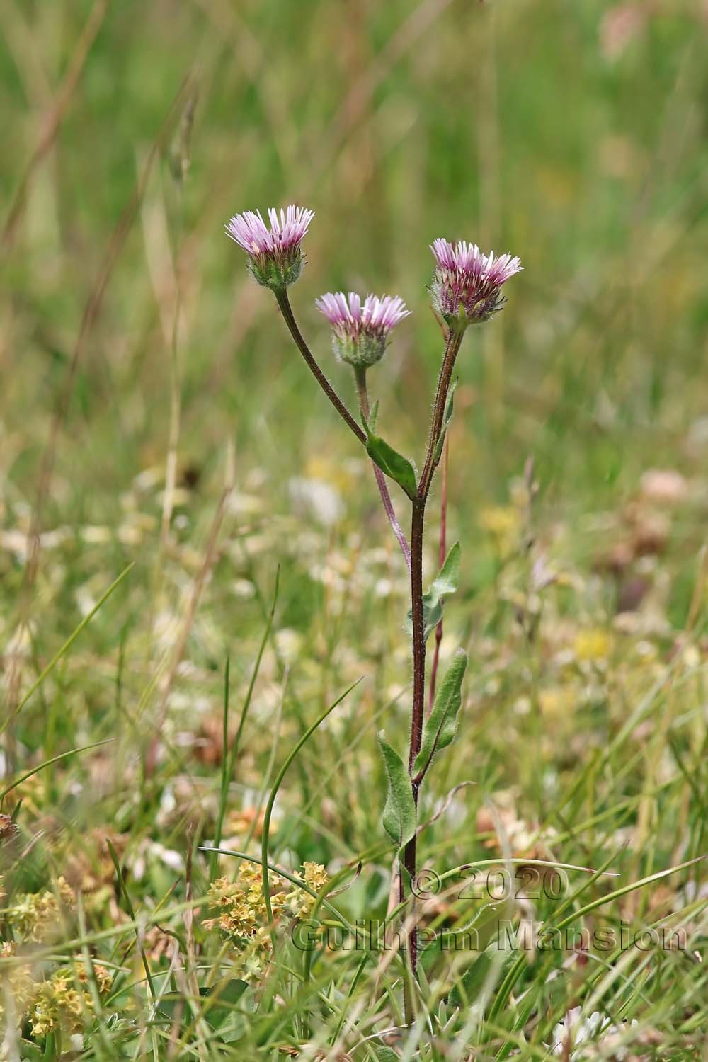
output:
MULTIPOLYGON (((308 367, 372 459, 384 511, 410 572, 413 701, 408 766, 404 766, 403 757, 387 743, 383 734, 379 735, 388 782, 383 826, 397 847, 399 896, 403 903, 410 898, 411 881, 416 874, 420 786, 433 757, 454 738, 467 665, 464 650, 459 649, 426 718, 426 643, 442 618, 444 598, 456 587, 460 566, 460 547, 455 544, 447 554, 438 576, 424 593, 426 506, 452 416, 452 373, 463 337, 469 325, 488 321, 499 312, 505 302, 502 287, 521 270, 521 264, 518 258, 511 255, 485 255, 474 243, 450 243, 446 239, 433 241, 431 251, 435 270, 430 292, 435 311, 444 324, 446 338, 425 459, 421 472, 418 473, 408 458, 398 453, 378 434, 378 404, 370 408, 366 380, 368 370, 385 354, 393 329, 409 315, 405 304, 398 296, 368 294, 362 299, 357 292, 349 292, 347 295, 341 291, 328 292, 316 299, 317 309, 331 325, 334 354, 352 367, 360 425, 312 355, 288 297, 288 288, 297 280, 305 263, 301 243, 314 215, 311 210, 291 205, 279 212, 271 208, 267 217, 270 227, 260 212, 245 211, 236 215, 228 222, 226 233, 248 255, 248 269, 254 279, 273 291, 286 325, 308 367), (396 517, 387 479, 401 487, 410 502, 410 542, 396 517)), ((266 890, 267 887, 265 873, 263 889, 266 890)), ((415 975, 415 933, 408 940, 408 961, 415 975)), ((405 992, 405 1016, 409 1022, 413 1017, 409 991, 405 992)))

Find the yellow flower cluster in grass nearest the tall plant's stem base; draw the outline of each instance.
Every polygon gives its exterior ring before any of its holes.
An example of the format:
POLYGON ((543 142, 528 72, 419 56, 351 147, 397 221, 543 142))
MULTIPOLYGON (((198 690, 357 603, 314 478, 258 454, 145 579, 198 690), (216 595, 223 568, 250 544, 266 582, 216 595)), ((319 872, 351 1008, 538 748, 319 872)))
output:
MULTIPOLYGON (((306 862, 303 864, 303 879, 316 892, 327 884, 328 877, 320 863, 306 862)), ((287 892, 286 883, 279 874, 269 874, 269 883, 274 921, 278 922, 283 917, 308 917, 315 903, 313 896, 298 886, 287 892)), ((263 898, 261 867, 258 863, 243 862, 235 881, 226 877, 212 881, 208 903, 209 908, 219 911, 219 914, 213 919, 205 919, 205 928, 220 929, 235 945, 237 976, 243 980, 258 979, 273 947, 263 898)))

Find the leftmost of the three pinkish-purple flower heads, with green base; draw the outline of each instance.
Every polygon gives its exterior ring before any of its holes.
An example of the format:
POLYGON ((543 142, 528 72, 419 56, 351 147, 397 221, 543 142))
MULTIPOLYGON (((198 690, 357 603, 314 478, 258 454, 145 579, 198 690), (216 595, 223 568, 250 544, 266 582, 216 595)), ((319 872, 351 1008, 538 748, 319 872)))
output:
POLYGON ((226 235, 248 255, 248 269, 264 288, 287 288, 303 271, 305 258, 300 243, 314 218, 306 207, 290 205, 280 212, 267 211, 271 227, 260 210, 244 210, 226 225, 226 235))

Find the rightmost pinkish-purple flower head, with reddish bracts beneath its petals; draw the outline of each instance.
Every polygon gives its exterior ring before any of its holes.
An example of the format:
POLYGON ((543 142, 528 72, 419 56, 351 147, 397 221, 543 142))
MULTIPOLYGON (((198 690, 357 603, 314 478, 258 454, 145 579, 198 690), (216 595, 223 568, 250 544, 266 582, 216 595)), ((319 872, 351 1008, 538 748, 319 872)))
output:
POLYGON ((430 250, 435 259, 433 302, 450 326, 488 321, 505 303, 502 285, 522 269, 518 258, 484 255, 476 243, 464 240, 433 240, 430 250))

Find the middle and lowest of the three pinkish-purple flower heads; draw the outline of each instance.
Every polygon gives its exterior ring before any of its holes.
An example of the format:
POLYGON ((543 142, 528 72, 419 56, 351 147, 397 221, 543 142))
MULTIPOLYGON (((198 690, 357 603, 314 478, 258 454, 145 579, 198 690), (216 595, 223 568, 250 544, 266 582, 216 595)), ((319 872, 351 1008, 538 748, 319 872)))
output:
POLYGON ((368 369, 380 361, 391 329, 410 310, 398 295, 367 295, 363 304, 356 291, 328 291, 315 306, 332 326, 332 347, 342 361, 368 369))

